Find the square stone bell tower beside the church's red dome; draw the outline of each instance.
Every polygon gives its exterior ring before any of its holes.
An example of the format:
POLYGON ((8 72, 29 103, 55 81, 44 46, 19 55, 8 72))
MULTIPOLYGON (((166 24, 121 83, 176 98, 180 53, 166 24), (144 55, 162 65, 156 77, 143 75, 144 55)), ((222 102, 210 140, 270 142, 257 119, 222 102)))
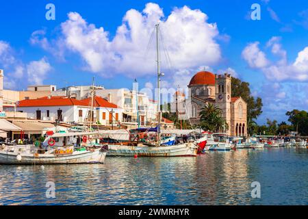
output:
MULTIPOLYGON (((215 75, 215 105, 222 110, 222 118, 227 121, 229 129, 224 129, 228 135, 231 134, 231 75, 215 75)), ((226 126, 227 127, 227 126, 226 126)))

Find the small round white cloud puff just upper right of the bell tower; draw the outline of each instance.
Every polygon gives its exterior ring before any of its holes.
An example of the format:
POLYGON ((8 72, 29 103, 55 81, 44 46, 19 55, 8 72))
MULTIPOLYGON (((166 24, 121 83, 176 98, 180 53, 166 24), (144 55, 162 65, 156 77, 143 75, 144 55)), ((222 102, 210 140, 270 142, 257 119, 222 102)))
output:
POLYGON ((242 57, 251 68, 264 68, 270 63, 266 54, 260 51, 259 42, 248 44, 242 51, 242 57))

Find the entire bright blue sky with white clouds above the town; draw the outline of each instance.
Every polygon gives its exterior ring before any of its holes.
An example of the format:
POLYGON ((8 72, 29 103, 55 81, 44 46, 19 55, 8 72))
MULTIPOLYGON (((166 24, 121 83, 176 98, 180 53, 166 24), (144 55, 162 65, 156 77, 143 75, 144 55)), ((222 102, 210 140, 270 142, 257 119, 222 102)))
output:
POLYGON ((164 88, 185 88, 198 70, 250 83, 257 123, 308 110, 308 1, 3 1, 0 68, 5 89, 28 85, 157 86, 159 23, 164 88), (47 20, 48 3, 55 20, 47 20), (260 19, 251 14, 259 4, 260 19))

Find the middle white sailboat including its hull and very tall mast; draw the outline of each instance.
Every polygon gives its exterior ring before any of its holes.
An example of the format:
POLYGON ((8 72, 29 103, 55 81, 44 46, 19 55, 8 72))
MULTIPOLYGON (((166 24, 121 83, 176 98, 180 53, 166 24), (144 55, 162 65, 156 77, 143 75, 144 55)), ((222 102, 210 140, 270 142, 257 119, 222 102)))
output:
POLYGON ((155 25, 156 31, 156 55, 157 55, 157 90, 158 90, 158 104, 157 104, 157 140, 155 144, 108 144, 108 154, 111 156, 149 156, 149 157, 174 157, 174 156, 196 156, 198 144, 194 140, 188 140, 187 142, 179 142, 174 144, 175 138, 163 138, 161 139, 161 120, 162 112, 160 110, 160 77, 164 74, 160 70, 159 60, 159 24, 155 25), (170 145, 172 144, 172 145, 170 145))

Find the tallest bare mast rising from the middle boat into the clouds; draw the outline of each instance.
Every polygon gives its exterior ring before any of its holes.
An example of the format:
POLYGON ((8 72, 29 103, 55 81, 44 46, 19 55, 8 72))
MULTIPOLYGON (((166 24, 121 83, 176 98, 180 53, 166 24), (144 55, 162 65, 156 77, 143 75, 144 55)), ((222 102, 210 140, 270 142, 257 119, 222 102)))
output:
POLYGON ((160 88, 159 88, 159 83, 160 83, 160 61, 159 61, 159 24, 155 25, 156 29, 156 59, 157 59, 157 113, 158 113, 158 125, 157 125, 157 146, 160 145, 160 121, 161 121, 161 112, 160 112, 160 88))

